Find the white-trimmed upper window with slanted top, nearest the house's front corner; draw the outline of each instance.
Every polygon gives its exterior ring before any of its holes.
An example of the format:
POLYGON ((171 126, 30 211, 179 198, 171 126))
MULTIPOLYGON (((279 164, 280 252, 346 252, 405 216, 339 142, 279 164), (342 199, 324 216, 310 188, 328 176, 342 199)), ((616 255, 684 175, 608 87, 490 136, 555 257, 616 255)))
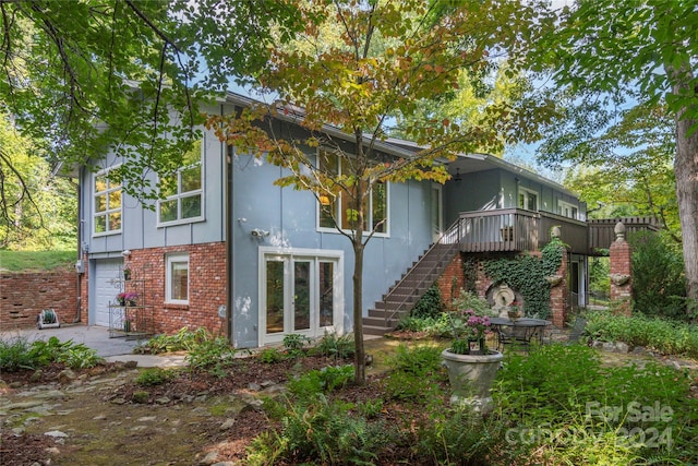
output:
POLYGON ((169 176, 160 177, 158 225, 191 223, 204 219, 204 178, 202 142, 196 141, 184 154, 182 167, 169 176))

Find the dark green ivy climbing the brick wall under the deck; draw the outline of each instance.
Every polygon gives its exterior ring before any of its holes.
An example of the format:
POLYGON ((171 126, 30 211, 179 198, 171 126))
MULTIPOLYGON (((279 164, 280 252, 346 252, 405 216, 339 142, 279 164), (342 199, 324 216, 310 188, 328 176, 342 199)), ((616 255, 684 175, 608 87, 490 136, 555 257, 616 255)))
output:
POLYGON ((514 259, 486 261, 484 272, 494 284, 506 283, 524 296, 524 314, 547 319, 550 308, 550 284, 545 279, 555 275, 563 262, 566 244, 553 238, 542 250, 541 256, 530 254, 514 259))

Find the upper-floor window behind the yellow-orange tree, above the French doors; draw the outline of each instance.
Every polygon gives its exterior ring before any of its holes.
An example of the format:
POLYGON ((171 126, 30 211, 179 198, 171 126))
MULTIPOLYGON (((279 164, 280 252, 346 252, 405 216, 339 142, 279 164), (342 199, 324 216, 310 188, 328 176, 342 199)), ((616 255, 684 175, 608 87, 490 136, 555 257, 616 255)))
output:
MULTIPOLYGON (((345 157, 339 157, 330 151, 320 150, 318 165, 321 168, 327 169, 334 176, 341 176, 349 172, 349 162, 345 157)), ((363 228, 368 232, 375 229, 376 235, 388 235, 388 212, 389 205, 389 184, 386 182, 377 182, 373 186, 371 193, 366 200, 366 218, 363 228)), ((350 228, 349 199, 342 196, 341 193, 337 198, 332 199, 328 195, 321 195, 318 203, 317 226, 322 230, 335 230, 335 222, 341 229, 350 228)))

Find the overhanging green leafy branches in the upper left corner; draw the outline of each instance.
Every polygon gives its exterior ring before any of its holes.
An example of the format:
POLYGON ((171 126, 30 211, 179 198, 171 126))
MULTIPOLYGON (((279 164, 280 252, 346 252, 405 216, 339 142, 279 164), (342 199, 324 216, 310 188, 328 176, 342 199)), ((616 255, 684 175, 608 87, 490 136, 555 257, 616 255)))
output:
POLYGON ((35 155, 67 167, 92 167, 111 147, 124 190, 152 200, 144 174, 179 167, 203 121, 195 103, 266 63, 272 31, 301 27, 292 4, 2 1, 0 111, 35 155))

